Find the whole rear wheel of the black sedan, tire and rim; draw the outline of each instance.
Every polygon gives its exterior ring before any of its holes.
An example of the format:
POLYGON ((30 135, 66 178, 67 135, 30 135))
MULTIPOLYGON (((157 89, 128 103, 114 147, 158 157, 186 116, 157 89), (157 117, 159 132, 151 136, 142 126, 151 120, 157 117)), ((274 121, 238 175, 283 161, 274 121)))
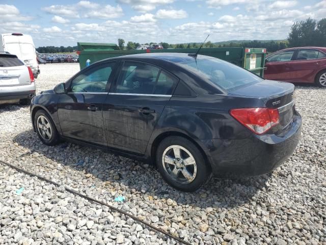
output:
POLYGON ((156 166, 169 185, 185 192, 199 189, 211 176, 197 146, 180 136, 170 136, 160 142, 156 166))

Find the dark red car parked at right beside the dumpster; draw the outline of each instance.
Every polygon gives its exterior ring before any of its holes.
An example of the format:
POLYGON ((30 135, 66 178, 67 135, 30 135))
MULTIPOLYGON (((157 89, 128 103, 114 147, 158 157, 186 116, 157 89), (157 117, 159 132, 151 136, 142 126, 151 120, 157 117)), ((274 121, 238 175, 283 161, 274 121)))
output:
POLYGON ((264 78, 326 87, 326 47, 292 47, 266 58, 264 78))

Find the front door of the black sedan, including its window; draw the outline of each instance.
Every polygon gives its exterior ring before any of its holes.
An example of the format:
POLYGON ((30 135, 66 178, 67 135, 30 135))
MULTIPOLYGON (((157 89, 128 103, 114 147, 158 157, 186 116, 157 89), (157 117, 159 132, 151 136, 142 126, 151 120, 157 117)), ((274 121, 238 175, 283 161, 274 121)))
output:
POLYGON ((86 69, 71 80, 67 93, 60 94, 58 115, 64 136, 107 145, 102 105, 114 66, 110 62, 86 69))

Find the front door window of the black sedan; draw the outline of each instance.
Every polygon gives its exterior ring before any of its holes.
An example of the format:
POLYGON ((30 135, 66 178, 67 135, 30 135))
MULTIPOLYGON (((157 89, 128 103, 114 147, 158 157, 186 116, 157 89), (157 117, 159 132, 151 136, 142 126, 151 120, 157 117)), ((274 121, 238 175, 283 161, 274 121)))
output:
POLYGON ((114 63, 89 69, 71 83, 72 92, 105 92, 108 78, 111 75, 114 63))

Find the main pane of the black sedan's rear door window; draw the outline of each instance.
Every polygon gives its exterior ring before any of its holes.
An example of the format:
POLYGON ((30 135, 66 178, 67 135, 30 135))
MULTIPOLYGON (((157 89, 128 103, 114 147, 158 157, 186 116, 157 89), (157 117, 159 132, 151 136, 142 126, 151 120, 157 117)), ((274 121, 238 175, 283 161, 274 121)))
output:
POLYGON ((159 68, 138 62, 125 62, 115 92, 153 94, 159 68))

